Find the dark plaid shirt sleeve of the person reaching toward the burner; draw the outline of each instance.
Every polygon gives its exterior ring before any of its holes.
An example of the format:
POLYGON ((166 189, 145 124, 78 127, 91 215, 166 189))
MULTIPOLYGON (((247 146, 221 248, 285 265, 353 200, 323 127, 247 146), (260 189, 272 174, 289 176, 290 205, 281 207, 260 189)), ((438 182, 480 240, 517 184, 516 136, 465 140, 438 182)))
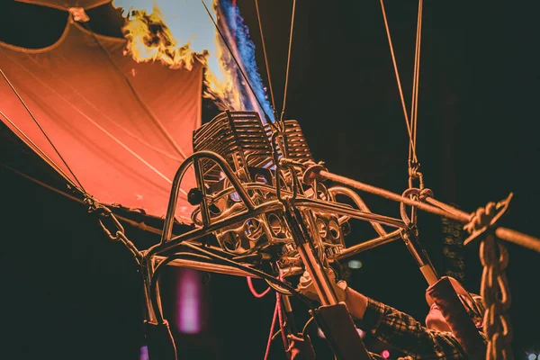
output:
POLYGON ((368 298, 361 328, 413 359, 462 359, 464 349, 452 332, 422 326, 404 312, 368 298))

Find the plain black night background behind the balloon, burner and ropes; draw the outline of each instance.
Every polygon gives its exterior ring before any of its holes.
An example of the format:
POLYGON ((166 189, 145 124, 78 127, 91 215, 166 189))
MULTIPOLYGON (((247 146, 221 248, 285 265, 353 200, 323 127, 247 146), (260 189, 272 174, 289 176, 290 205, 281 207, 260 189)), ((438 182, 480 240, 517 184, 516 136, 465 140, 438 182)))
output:
MULTIPOLYGON (((237 3, 265 76, 254 2, 237 3)), ((259 3, 281 109, 292 1, 259 3)), ((388 0, 385 5, 409 104, 418 3, 388 0)), ((417 149, 436 198, 473 211, 514 192, 504 224, 536 237, 538 7, 535 2, 425 2, 417 149)), ((287 117, 300 121, 314 157, 330 171, 401 193, 407 187, 408 137, 379 2, 298 1, 296 11, 287 117)), ((119 34, 121 19, 111 5, 87 13, 94 31, 119 34)), ((0 16, 0 40, 33 48, 57 40, 67 21, 63 12, 30 4, 6 3, 0 16)), ((205 102, 204 121, 214 112, 205 102)), ((48 184, 57 182, 45 167, 29 162, 5 130, 1 144, 4 164, 34 172, 48 184)), ((144 345, 141 293, 129 253, 103 236, 81 204, 4 167, 0 176, 1 357, 137 359, 144 345)), ((365 201, 373 211, 399 216, 395 203, 369 194, 365 201)), ((455 270, 443 252, 441 220, 422 214, 419 221, 422 243, 438 272, 455 270)), ((354 224, 347 241, 373 236, 364 229, 354 224)), ((139 246, 156 240, 130 228, 128 236, 139 246)), ((540 352, 540 255, 512 244, 508 248, 513 349, 525 359, 540 352)), ((464 284, 478 292, 478 243, 454 250, 466 265, 464 284)), ((403 244, 396 241, 356 258, 363 267, 351 272, 350 286, 423 320, 426 284, 403 244)), ((175 272, 164 275, 162 286, 169 318, 173 294, 166 284, 173 286, 175 272)), ((175 333, 186 358, 262 358, 274 297, 255 299, 245 279, 224 275, 211 275, 204 289, 204 331, 192 337, 175 333)), ((302 306, 293 304, 299 320, 307 319, 302 306)), ((317 346, 326 354, 324 343, 317 346)), ((280 347, 276 339, 271 358, 284 358, 280 347)))

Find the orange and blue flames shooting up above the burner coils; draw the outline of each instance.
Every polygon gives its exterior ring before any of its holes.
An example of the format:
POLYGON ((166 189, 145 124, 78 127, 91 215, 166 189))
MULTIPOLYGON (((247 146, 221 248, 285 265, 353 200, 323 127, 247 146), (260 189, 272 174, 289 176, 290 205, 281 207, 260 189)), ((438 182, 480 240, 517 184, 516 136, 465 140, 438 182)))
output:
MULTIPOLYGON (((199 61, 205 67, 205 91, 202 94, 204 97, 210 98, 221 110, 254 110, 261 113, 263 109, 258 105, 255 95, 248 89, 236 61, 219 32, 215 30, 202 4, 196 5, 198 2, 193 1, 190 3, 191 6, 187 2, 166 4, 166 1, 162 0, 162 7, 170 6, 162 12, 159 2, 154 1, 150 13, 148 4, 144 4, 145 1, 148 0, 113 1, 114 6, 129 9, 128 12, 124 11, 127 23, 122 28, 124 37, 128 40, 125 51, 127 55, 138 62, 161 61, 168 67, 188 70, 193 67, 195 61, 199 61), (179 19, 180 17, 182 19, 179 19), (197 36, 202 35, 201 33, 188 33, 191 30, 186 31, 185 26, 183 28, 179 26, 186 20, 191 20, 193 27, 204 32, 206 37, 197 36), (208 35, 210 33, 211 36, 208 35), (198 44, 200 49, 193 49, 192 40, 202 40, 199 41, 202 44, 198 44)), ((238 14, 238 8, 229 0, 212 1, 213 4, 209 8, 213 11, 214 18, 217 18, 225 41, 237 58, 242 71, 247 74, 250 83, 255 84, 257 97, 263 101, 264 112, 271 113, 257 67, 254 67, 254 46, 248 39, 247 27, 238 14)))

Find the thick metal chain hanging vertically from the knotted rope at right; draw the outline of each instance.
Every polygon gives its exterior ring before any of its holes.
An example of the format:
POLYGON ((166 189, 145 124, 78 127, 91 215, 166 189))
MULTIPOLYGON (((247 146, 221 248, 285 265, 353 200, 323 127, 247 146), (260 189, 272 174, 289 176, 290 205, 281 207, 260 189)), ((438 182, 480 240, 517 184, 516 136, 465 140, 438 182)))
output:
POLYGON ((488 339, 486 360, 511 360, 513 333, 508 315, 511 296, 505 273, 509 252, 492 233, 480 244, 480 261, 483 266, 481 294, 486 307, 483 332, 488 339))

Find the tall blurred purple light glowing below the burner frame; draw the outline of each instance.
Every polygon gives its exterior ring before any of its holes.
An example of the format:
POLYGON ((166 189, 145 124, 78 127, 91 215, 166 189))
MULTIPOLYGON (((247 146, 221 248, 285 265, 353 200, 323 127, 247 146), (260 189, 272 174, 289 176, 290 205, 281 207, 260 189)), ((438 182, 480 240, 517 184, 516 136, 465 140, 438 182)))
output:
POLYGON ((201 331, 201 274, 182 269, 176 286, 176 327, 184 334, 201 331))

